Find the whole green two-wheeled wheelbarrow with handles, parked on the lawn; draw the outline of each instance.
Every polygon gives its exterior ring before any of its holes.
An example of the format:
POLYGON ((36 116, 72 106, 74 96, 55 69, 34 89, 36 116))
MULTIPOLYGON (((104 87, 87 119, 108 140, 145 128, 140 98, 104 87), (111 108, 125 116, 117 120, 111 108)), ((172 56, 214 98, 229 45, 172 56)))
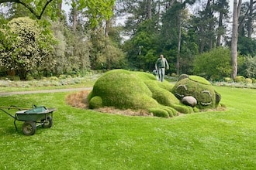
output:
POLYGON ((0 107, 0 110, 8 114, 10 117, 14 118, 14 125, 16 131, 18 131, 16 121, 24 121, 22 124, 22 132, 25 135, 33 135, 36 133, 36 127, 42 126, 43 128, 50 128, 53 125, 53 113, 55 108, 47 109, 47 107, 36 107, 33 106, 32 109, 22 108, 22 107, 0 107), (9 114, 6 110, 17 109, 19 111, 13 116, 9 114))

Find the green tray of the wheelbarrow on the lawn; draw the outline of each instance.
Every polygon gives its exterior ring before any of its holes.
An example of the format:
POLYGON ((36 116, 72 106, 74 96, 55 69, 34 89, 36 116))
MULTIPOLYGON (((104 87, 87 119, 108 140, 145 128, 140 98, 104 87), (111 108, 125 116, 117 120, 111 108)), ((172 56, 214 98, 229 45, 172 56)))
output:
POLYGON ((17 121, 41 121, 52 117, 56 109, 47 109, 46 107, 36 107, 32 110, 21 110, 16 112, 17 121))

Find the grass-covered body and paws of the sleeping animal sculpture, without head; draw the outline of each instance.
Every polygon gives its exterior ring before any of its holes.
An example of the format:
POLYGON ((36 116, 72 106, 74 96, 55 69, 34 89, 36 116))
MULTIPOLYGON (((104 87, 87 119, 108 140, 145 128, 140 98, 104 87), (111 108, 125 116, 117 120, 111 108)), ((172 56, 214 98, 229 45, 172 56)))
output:
POLYGON ((160 117, 192 113, 192 107, 181 104, 171 93, 172 88, 171 83, 161 83, 150 73, 111 70, 95 82, 88 95, 89 107, 144 109, 160 117))

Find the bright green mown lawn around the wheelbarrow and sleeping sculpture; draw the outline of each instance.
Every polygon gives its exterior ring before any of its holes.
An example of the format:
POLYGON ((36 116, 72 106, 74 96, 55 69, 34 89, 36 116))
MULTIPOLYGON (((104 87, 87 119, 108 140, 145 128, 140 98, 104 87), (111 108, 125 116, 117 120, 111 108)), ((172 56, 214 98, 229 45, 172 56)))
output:
POLYGON ((256 90, 216 87, 226 111, 129 117, 65 104, 68 93, 0 97, 56 107, 54 126, 22 134, 0 113, 0 169, 256 169, 256 90))

